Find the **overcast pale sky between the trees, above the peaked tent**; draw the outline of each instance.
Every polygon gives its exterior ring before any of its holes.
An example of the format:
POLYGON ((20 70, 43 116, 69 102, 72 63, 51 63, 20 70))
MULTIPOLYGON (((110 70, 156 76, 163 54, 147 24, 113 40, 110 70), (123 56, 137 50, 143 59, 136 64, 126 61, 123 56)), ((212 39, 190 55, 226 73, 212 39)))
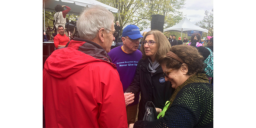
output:
POLYGON ((186 8, 181 9, 180 12, 183 12, 184 15, 187 14, 187 19, 196 24, 205 16, 205 10, 212 12, 213 0, 186 0, 184 7, 186 8))

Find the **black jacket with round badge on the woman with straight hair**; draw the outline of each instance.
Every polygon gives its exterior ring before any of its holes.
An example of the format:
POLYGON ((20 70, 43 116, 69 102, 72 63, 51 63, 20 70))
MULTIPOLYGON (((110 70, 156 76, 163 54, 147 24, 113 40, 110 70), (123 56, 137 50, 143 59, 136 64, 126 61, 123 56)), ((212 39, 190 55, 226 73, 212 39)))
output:
POLYGON ((147 101, 152 101, 156 108, 163 109, 174 90, 171 82, 165 81, 162 67, 159 66, 157 71, 151 76, 151 73, 147 70, 146 61, 147 59, 140 59, 134 79, 125 91, 125 93, 132 92, 134 95, 141 92, 138 120, 142 120, 144 117, 147 101))

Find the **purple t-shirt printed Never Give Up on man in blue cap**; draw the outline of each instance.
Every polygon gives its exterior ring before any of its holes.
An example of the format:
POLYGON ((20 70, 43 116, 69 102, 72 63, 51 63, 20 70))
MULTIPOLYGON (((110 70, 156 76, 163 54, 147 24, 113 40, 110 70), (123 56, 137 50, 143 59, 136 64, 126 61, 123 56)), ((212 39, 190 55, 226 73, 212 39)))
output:
MULTIPOLYGON (((110 58, 112 59, 112 63, 114 63, 117 67, 117 71, 120 76, 120 81, 123 84, 123 90, 125 90, 130 86, 133 81, 134 75, 136 73, 136 68, 139 60, 142 58, 142 53, 137 49, 137 51, 127 54, 125 53, 121 46, 115 47, 111 49, 108 53, 110 58)), ((140 94, 138 93, 134 102, 129 104, 128 106, 132 106, 139 103, 140 94)))

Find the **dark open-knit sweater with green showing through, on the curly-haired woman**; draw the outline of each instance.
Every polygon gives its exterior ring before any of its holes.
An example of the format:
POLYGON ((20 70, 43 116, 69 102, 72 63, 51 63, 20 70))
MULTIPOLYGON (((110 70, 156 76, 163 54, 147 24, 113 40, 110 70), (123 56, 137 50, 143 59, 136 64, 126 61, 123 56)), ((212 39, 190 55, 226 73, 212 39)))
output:
POLYGON ((165 116, 138 120, 134 128, 213 128, 213 86, 205 74, 195 74, 177 87, 165 116))

